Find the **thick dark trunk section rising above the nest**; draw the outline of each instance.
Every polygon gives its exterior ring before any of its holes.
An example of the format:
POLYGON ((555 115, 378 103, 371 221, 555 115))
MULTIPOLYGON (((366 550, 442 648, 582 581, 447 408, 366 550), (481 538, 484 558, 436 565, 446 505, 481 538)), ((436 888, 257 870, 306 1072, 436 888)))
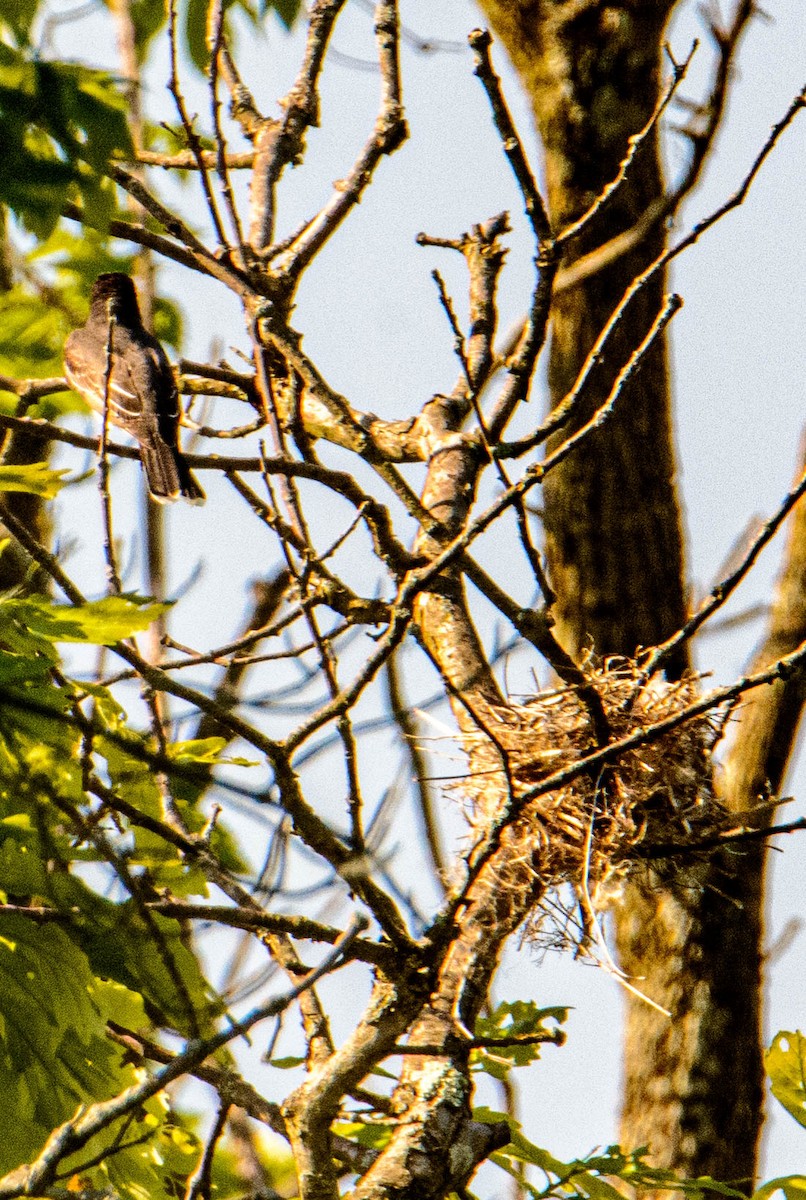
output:
MULTIPOLYGON (((555 230, 581 216, 615 178, 627 139, 658 98, 663 2, 510 4, 485 0, 500 40, 533 102, 545 146, 548 204, 555 230)), ((564 265, 631 228, 662 194, 657 139, 616 198, 572 242, 564 265)), ((571 389, 596 336, 626 288, 662 250, 657 230, 632 253, 555 299, 549 386, 552 404, 571 389)), ((661 306, 656 276, 632 302, 608 343, 572 426, 606 400, 619 370, 661 306)), ((570 432, 563 430, 559 437, 570 432)), ((674 484, 666 350, 657 344, 615 418, 552 473, 545 492, 547 553, 558 593, 557 630, 579 654, 632 654, 662 641, 684 617, 682 536, 674 484)), ((678 659, 672 668, 680 671, 678 659)))

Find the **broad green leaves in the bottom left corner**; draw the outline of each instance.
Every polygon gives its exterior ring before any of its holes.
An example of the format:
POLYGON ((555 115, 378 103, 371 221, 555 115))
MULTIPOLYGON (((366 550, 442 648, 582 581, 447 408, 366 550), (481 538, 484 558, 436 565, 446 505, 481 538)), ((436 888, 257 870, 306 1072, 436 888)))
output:
MULTIPOLYGON (((136 1082, 137 1073, 106 1036, 110 1020, 144 1025, 140 995, 94 974, 86 956, 56 925, 37 928, 22 916, 0 912, 0 1170, 35 1156, 78 1104, 106 1099, 136 1082)), ((155 1188, 164 1194, 173 1175, 157 1153, 166 1117, 164 1102, 150 1100, 115 1128, 112 1142, 104 1136, 90 1142, 79 1162, 68 1159, 66 1175, 83 1174, 80 1164, 102 1152, 90 1172, 96 1187, 106 1180, 137 1200, 155 1188)), ((197 1152, 188 1139, 185 1172, 197 1152)))

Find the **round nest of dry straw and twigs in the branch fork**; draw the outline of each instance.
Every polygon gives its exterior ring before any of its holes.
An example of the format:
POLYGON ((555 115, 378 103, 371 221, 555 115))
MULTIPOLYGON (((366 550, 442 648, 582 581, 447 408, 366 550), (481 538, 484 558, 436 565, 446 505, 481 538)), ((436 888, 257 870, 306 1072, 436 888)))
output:
MULTIPOLYGON (((567 928, 561 886, 578 898, 584 937, 594 912, 630 875, 646 875, 649 863, 667 878, 685 875, 691 886, 705 862, 697 845, 728 821, 714 792, 712 761, 724 713, 712 709, 652 732, 702 698, 700 678, 645 683, 625 659, 589 662, 585 677, 601 701, 608 744, 639 738, 594 769, 552 786, 599 749, 584 689, 541 692, 497 709, 483 731, 463 734, 471 764, 461 785, 475 847, 469 859, 486 856, 489 919, 511 928, 527 920, 528 934, 543 942, 547 913, 559 911, 567 928)), ((557 919, 549 924, 557 936, 557 919)))

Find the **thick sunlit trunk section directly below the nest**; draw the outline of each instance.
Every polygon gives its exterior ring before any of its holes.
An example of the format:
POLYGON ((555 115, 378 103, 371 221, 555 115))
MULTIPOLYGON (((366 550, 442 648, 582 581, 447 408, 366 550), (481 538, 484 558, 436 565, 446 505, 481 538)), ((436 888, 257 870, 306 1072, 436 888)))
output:
POLYGON ((618 914, 620 965, 672 1014, 627 1006, 621 1140, 742 1187, 762 1122, 762 862, 717 858, 690 892, 633 884, 618 914))

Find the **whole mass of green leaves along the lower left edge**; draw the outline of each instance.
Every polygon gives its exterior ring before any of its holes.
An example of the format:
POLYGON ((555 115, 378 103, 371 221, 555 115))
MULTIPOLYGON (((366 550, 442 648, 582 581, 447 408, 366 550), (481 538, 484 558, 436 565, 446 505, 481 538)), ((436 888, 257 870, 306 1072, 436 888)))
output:
MULTIPOLYGON (((43 472, 31 469, 32 480, 43 472)), ((19 468, 20 470, 24 469, 19 468)), ((6 480, 10 485, 11 480, 6 480)), ((108 1027, 209 1033, 221 1010, 176 920, 148 911, 162 887, 204 893, 184 858, 92 803, 90 773, 144 817, 161 812, 146 740, 107 689, 62 674, 60 643, 110 646, 164 610, 137 596, 59 605, 0 602, 0 1171, 35 1157, 82 1104, 120 1094, 142 1068, 108 1027), (89 701, 91 719, 82 715, 89 701), (92 728, 92 744, 88 728, 92 728), (142 757, 131 751, 140 751, 142 757), (144 758, 146 761, 144 761, 144 758), (112 841, 118 850, 114 850, 112 841), (86 874, 89 871, 89 874, 86 874)), ((215 742, 215 739, 212 739, 215 742)), ((175 748, 210 762, 216 744, 175 748)), ((188 829, 203 818, 178 800, 188 829)), ((225 859, 225 834, 218 833, 225 859)), ((237 859, 230 856, 237 865, 237 859)), ((94 1138, 61 1168, 77 1187, 132 1200, 175 1193, 198 1139, 164 1098, 94 1138)), ((61 1176, 60 1176, 61 1177, 61 1176)))

